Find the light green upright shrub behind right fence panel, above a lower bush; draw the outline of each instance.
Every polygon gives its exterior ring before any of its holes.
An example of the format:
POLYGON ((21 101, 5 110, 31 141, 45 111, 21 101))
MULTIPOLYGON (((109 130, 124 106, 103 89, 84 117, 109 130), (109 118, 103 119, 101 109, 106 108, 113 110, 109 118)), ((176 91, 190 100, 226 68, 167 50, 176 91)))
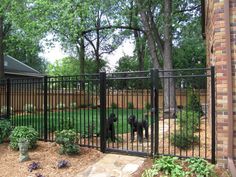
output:
POLYGON ((177 113, 177 124, 179 127, 193 130, 196 132, 200 128, 200 115, 195 111, 182 110, 177 113))

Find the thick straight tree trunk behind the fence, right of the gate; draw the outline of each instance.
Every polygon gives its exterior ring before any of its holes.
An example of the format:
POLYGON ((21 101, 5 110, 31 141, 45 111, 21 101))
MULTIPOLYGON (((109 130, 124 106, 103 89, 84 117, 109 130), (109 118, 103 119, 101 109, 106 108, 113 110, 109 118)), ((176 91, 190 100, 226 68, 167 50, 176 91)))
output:
MULTIPOLYGON (((172 70, 172 21, 171 21, 172 0, 165 0, 164 4, 164 70, 172 70)), ((175 82, 171 71, 164 72, 164 112, 171 116, 175 113, 175 82)))

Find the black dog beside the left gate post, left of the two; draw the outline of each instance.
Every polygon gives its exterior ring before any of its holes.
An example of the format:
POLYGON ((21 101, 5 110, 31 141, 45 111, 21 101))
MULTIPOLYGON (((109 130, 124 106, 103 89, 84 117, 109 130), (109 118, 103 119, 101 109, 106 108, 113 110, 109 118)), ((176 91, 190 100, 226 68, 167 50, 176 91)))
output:
POLYGON ((115 127, 114 122, 117 121, 117 117, 114 113, 111 113, 106 119, 106 139, 111 139, 112 142, 115 142, 115 127))

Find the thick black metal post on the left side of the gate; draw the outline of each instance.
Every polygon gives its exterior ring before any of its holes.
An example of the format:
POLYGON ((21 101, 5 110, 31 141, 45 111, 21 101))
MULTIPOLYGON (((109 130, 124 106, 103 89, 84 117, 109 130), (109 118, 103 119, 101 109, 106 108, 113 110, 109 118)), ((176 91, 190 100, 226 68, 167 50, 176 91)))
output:
POLYGON ((101 152, 106 151, 106 72, 100 72, 100 147, 101 152))

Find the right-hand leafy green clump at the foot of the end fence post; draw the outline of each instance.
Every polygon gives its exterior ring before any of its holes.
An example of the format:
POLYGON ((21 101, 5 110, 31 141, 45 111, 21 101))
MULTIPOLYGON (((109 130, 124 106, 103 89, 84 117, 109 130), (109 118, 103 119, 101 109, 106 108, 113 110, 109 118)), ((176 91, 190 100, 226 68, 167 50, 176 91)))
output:
POLYGON ((214 165, 208 163, 206 160, 201 158, 190 158, 187 159, 188 168, 190 169, 189 175, 194 174, 197 177, 213 177, 216 176, 214 165))

